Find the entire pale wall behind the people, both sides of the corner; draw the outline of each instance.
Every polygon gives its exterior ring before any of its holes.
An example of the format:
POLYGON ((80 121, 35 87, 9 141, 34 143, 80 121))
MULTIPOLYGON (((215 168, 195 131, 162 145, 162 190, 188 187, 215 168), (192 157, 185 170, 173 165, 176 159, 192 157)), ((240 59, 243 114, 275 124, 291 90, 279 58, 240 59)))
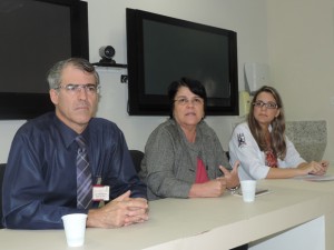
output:
MULTIPOLYGON (((88 0, 91 62, 110 44, 116 61, 127 63, 125 9, 135 8, 235 30, 238 34, 238 78, 244 89, 245 62, 269 64, 272 84, 285 103, 287 120, 326 120, 324 158, 334 161, 334 0, 88 0), (332 102, 331 102, 332 101, 332 102)), ((129 117, 126 69, 99 68, 102 99, 98 116, 124 130, 129 148, 144 149, 150 131, 165 117, 129 117)), ((208 117, 227 149, 235 117, 208 117)), ((24 121, 0 121, 0 162, 6 162, 12 137, 24 121)))

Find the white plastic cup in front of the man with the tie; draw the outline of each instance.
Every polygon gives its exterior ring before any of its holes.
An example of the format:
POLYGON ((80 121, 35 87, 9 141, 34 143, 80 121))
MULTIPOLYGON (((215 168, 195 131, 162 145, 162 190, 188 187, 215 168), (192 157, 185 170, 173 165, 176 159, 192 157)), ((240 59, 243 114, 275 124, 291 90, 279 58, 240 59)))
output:
POLYGON ((86 213, 71 213, 61 217, 68 247, 80 247, 85 243, 86 213))

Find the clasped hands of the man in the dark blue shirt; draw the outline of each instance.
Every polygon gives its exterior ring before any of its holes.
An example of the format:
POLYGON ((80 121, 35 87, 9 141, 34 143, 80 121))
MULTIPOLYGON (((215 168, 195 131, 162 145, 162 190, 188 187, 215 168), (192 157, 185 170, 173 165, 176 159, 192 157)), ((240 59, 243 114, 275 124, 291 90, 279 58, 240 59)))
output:
POLYGON ((130 198, 125 192, 106 206, 88 212, 87 227, 119 228, 148 220, 148 202, 144 198, 130 198))

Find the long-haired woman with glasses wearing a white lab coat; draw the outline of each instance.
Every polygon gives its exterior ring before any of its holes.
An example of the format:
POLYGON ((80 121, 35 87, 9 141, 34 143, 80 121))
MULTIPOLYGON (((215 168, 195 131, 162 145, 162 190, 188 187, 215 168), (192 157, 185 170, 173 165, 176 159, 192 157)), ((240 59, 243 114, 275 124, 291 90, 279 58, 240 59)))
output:
POLYGON ((229 141, 230 163, 240 161, 240 180, 324 174, 328 162, 306 162, 285 136, 282 99, 273 87, 256 91, 247 122, 238 124, 229 141))

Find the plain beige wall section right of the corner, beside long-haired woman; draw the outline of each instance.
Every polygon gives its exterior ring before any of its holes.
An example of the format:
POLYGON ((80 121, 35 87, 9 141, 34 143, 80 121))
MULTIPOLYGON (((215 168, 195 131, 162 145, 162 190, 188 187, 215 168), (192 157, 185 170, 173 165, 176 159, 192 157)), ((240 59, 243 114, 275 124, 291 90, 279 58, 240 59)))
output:
POLYGON ((326 120, 324 159, 333 162, 334 0, 269 0, 267 8, 271 73, 286 118, 326 120))

